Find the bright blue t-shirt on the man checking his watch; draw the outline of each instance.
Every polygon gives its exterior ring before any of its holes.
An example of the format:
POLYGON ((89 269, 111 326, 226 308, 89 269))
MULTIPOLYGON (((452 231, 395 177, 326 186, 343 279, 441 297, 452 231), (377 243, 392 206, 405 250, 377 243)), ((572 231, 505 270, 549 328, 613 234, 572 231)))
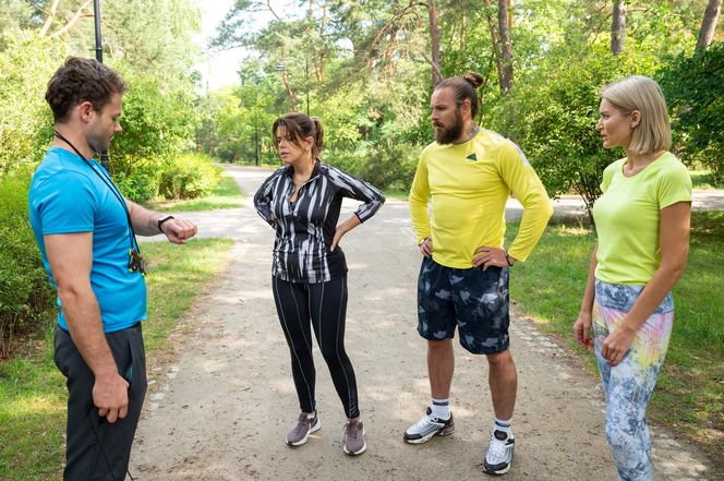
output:
MULTIPOLYGON (((31 182, 31 226, 56 290, 44 236, 93 232, 90 287, 98 300, 104 330, 112 333, 146 318, 146 284, 141 273, 128 268, 131 241, 125 211, 100 178, 106 170, 89 161, 97 173, 70 151, 48 151, 31 182)), ((68 330, 60 298, 57 304, 58 324, 68 330)))

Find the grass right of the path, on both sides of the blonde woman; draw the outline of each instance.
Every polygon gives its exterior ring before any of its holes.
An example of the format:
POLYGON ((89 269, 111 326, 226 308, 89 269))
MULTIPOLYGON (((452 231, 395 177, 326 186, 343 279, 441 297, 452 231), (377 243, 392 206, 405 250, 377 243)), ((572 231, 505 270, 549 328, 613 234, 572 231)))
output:
MULTIPOLYGON (((674 287, 674 332, 648 418, 702 445, 724 452, 724 212, 693 213, 687 270, 674 287)), ((518 225, 510 225, 512 239, 518 225)), ((544 332, 588 359, 572 340, 595 238, 580 226, 553 225, 528 262, 516 265, 510 294, 544 332)))

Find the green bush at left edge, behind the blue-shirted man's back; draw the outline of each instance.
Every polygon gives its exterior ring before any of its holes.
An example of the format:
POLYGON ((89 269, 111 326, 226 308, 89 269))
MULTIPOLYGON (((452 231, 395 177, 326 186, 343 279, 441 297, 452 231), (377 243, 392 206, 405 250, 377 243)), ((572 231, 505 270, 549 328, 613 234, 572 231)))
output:
POLYGON ((0 176, 0 351, 52 304, 27 217, 28 175, 0 176))

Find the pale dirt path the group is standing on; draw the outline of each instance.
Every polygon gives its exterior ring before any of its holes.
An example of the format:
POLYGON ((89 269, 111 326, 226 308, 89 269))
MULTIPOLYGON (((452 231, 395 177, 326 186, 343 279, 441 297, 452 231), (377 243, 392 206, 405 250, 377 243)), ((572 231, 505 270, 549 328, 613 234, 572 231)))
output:
MULTIPOLYGON (((268 175, 250 168, 231 171, 251 193, 268 175)), ((346 204, 342 215, 353 207, 346 204)), ((283 444, 299 408, 272 298, 272 229, 253 212, 251 200, 231 214, 200 214, 197 220, 202 229, 216 224, 214 230, 237 243, 224 275, 173 334, 177 354, 149 364, 153 384, 131 462, 135 479, 487 479, 480 466, 493 419, 487 365, 457 342, 451 396, 456 433, 420 446, 402 442, 402 432, 419 419, 430 397, 425 345, 415 329, 420 257, 406 203, 388 202, 341 244, 350 268, 347 349, 367 430, 367 452, 355 458, 341 450, 345 417, 318 350, 323 428, 304 446, 283 444)), ((517 443, 505 479, 616 479, 598 382, 517 316, 511 320, 511 352, 519 373, 517 443)), ((695 448, 659 429, 652 437, 657 480, 713 480, 695 448)))

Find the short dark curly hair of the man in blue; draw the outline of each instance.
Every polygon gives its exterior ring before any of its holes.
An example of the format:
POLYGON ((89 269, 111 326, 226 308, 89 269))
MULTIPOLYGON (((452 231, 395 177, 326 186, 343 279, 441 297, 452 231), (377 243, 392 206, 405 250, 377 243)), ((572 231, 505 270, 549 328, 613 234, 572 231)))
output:
POLYGON ((123 95, 128 89, 121 75, 99 61, 69 57, 48 82, 46 100, 53 120, 64 122, 76 105, 89 101, 99 112, 113 94, 123 95))

